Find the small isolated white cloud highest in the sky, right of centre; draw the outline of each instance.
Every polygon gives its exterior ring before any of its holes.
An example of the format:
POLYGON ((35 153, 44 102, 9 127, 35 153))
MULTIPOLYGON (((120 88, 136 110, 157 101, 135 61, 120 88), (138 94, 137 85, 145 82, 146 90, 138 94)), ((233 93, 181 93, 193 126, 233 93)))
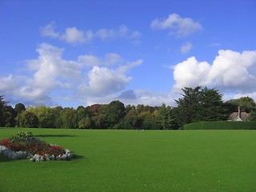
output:
POLYGON ((200 23, 194 22, 191 18, 182 18, 178 14, 170 14, 168 18, 156 18, 150 26, 154 30, 170 30, 170 34, 178 37, 185 37, 202 30, 200 23))

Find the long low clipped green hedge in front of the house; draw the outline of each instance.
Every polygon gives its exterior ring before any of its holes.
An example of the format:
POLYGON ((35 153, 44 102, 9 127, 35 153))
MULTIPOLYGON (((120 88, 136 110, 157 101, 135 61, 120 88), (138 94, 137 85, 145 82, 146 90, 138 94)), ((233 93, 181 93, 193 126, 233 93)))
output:
POLYGON ((192 122, 184 130, 256 130, 256 122, 192 122))

